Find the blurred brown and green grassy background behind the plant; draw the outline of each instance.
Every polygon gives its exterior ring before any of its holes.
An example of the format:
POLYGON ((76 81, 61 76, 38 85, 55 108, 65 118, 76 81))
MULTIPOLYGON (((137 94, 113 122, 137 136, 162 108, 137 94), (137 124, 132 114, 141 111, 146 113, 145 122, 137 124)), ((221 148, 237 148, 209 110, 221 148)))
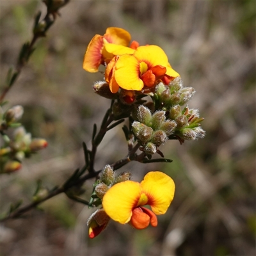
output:
MULTIPOLYGON (((31 40, 38 10, 45 13, 40 1, 1 1, 1 84, 31 40)), ((83 56, 109 26, 164 49, 184 86, 196 90, 189 107, 205 118, 207 136, 183 145, 168 141, 161 151, 173 163, 129 163, 120 170, 134 180, 150 170, 175 180, 175 198, 156 228, 111 222, 90 240, 86 220, 95 210, 58 195, 4 224, 1 255, 255 255, 255 10, 255 1, 246 0, 71 0, 62 8, 6 96, 9 106, 24 106, 26 130, 49 147, 19 172, 2 175, 2 212, 20 198, 31 202, 36 180, 51 189, 83 166, 82 142, 90 147, 93 123, 110 104, 93 93, 102 74, 85 72, 83 56)), ((123 158, 125 144, 120 125, 102 141, 96 169, 123 158)), ((84 185, 87 200, 92 182, 84 185)))

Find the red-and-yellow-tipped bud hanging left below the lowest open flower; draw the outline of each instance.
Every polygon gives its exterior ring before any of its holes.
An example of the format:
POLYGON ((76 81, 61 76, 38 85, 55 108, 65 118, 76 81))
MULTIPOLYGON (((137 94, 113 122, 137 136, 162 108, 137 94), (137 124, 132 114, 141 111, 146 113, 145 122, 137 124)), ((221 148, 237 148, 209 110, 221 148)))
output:
POLYGON ((94 238, 104 230, 109 223, 109 216, 106 214, 104 209, 99 209, 90 216, 87 221, 89 227, 88 233, 90 238, 94 238))

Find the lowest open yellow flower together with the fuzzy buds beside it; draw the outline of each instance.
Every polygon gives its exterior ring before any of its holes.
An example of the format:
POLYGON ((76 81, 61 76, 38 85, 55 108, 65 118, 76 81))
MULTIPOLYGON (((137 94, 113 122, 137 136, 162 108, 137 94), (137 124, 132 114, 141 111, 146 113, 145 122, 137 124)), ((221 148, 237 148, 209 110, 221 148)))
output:
POLYGON ((156 215, 167 211, 174 196, 175 184, 168 175, 148 172, 139 183, 129 180, 130 173, 115 178, 110 166, 106 166, 102 173, 95 188, 96 195, 102 198, 102 208, 88 219, 90 238, 99 235, 110 219, 121 224, 129 223, 137 229, 157 226, 156 215), (150 205, 152 211, 144 205, 150 205))

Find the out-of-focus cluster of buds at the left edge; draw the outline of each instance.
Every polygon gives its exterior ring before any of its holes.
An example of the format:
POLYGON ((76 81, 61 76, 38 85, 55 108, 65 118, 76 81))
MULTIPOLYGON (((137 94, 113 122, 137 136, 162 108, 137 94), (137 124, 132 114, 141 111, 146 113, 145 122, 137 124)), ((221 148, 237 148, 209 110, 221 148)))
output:
POLYGON ((31 138, 31 134, 26 132, 24 127, 20 126, 17 122, 24 112, 22 106, 14 106, 5 113, 3 113, 2 108, 0 110, 0 131, 3 134, 4 140, 0 149, 1 173, 11 173, 21 168, 22 159, 47 147, 47 141, 42 138, 31 138), (18 128, 13 131, 12 138, 10 138, 4 131, 12 127, 18 128))

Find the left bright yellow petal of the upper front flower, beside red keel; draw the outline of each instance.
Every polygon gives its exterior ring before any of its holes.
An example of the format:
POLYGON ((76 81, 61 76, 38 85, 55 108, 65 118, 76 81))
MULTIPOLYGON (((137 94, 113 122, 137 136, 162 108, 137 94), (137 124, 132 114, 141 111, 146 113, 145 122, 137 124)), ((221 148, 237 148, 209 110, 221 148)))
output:
POLYGON ((140 91, 143 81, 140 79, 140 63, 129 54, 120 56, 116 61, 115 79, 118 85, 125 90, 140 91))

